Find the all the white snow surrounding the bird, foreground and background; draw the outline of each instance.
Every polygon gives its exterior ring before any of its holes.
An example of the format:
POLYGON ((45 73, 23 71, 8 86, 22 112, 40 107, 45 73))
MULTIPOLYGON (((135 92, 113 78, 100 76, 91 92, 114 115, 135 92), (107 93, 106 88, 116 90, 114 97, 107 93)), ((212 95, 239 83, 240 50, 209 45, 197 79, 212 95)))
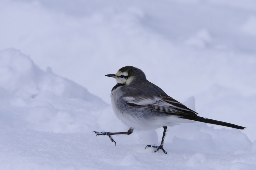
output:
POLYGON ((254 1, 3 0, 0 50, 0 169, 256 169, 254 1), (167 155, 163 129, 95 137, 128 130, 104 76, 126 65, 248 128, 170 127, 167 155))

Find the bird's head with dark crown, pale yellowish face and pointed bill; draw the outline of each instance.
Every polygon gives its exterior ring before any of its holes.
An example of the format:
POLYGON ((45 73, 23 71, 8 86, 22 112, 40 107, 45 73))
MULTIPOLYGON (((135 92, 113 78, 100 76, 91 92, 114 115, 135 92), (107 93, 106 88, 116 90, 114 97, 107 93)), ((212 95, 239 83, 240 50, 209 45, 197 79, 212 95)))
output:
POLYGON ((114 77, 116 83, 130 85, 134 82, 146 80, 145 73, 133 66, 125 66, 117 71, 115 74, 107 74, 105 76, 114 77))

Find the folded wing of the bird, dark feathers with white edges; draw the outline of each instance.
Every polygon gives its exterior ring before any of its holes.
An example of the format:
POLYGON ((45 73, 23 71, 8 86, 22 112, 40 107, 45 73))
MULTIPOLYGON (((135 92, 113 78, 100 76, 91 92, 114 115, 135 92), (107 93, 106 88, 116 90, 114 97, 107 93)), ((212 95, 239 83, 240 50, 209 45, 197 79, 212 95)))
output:
POLYGON ((141 107, 151 111, 164 112, 167 114, 197 116, 195 111, 187 108, 184 104, 178 102, 170 96, 159 95, 154 98, 147 97, 125 97, 129 106, 141 107))

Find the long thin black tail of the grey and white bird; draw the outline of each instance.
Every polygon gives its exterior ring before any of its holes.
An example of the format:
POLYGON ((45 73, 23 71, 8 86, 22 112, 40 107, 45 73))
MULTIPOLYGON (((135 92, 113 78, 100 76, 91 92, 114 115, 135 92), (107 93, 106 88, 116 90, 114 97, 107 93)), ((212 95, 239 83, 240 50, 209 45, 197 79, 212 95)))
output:
POLYGON ((236 128, 236 129, 245 129, 246 128, 246 127, 234 125, 231 123, 221 122, 221 121, 212 120, 212 119, 206 119, 206 118, 200 117, 200 116, 186 115, 186 116, 181 116, 180 118, 193 120, 193 121, 197 121, 197 122, 204 122, 204 123, 210 123, 210 124, 215 124, 215 125, 227 126, 227 127, 232 127, 232 128, 236 128))

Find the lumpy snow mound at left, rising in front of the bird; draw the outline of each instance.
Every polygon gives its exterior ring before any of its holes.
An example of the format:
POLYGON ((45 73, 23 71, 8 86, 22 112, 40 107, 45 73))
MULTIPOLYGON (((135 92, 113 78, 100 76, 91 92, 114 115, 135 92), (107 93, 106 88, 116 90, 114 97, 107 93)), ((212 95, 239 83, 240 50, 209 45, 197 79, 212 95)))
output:
POLYGON ((108 104, 47 70, 19 50, 0 51, 1 125, 55 133, 88 129, 93 123, 89 113, 108 104))

